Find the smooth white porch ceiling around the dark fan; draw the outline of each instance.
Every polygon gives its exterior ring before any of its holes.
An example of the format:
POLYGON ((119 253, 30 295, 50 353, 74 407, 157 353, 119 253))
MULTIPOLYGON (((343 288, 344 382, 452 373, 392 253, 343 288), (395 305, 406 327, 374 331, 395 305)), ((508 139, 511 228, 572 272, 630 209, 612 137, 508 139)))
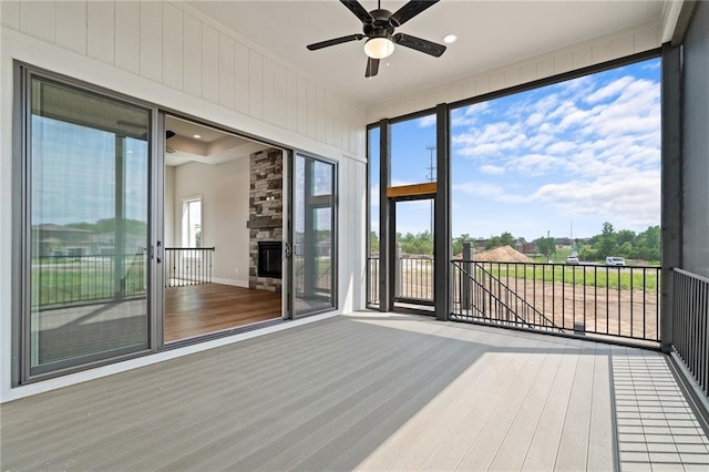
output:
MULTIPOLYGON (((379 75, 364 79, 364 41, 319 51, 306 45, 361 33, 361 22, 337 0, 187 1, 318 83, 366 105, 489 71, 567 45, 647 23, 659 23, 665 0, 537 1, 442 0, 397 32, 442 43, 456 34, 436 59, 398 47, 382 61, 379 75)), ((360 0, 367 9, 374 0, 360 0)), ((392 12, 404 0, 383 0, 392 12)))

